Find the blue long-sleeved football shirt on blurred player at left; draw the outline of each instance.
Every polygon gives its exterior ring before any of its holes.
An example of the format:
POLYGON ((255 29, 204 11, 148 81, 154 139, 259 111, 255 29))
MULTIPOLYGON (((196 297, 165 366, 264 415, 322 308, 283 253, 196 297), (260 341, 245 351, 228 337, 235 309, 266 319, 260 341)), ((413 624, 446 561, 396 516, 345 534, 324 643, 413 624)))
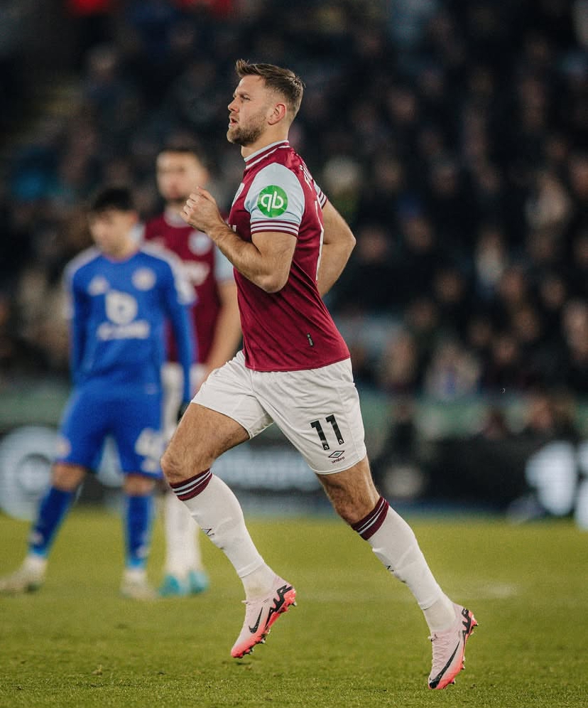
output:
POLYGON ((165 322, 170 321, 190 400, 194 334, 188 306, 194 289, 173 254, 143 245, 124 260, 90 248, 68 264, 71 369, 74 382, 160 387, 165 322))

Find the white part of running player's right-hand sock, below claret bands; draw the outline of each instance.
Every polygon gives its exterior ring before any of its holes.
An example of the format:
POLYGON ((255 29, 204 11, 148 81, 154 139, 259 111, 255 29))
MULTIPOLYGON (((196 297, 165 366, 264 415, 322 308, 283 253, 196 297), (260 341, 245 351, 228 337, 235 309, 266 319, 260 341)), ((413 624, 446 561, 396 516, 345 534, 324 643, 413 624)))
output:
POLYGON ((452 601, 433 577, 413 530, 391 507, 368 543, 386 568, 408 585, 430 631, 441 631, 454 623, 452 601))

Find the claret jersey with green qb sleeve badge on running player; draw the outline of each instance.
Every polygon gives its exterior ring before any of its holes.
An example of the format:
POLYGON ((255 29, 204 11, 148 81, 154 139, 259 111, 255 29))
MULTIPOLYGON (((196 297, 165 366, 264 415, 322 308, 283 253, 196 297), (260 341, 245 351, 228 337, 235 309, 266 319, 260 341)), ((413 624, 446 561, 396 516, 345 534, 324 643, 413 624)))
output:
POLYGON ((257 371, 314 369, 349 357, 317 289, 322 207, 327 198, 288 141, 245 160, 229 225, 245 241, 261 232, 293 235, 288 281, 276 293, 235 272, 246 365, 257 371))

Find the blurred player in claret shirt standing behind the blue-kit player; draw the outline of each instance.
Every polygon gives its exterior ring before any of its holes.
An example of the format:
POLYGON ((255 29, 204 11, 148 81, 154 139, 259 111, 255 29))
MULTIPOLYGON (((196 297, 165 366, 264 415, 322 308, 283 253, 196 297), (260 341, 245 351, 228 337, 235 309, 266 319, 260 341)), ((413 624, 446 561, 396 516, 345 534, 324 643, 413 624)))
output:
MULTIPOLYGON (((197 360, 192 366, 190 382, 195 393, 212 370, 232 358, 241 340, 233 266, 205 233, 187 225, 180 216, 190 192, 208 181, 200 151, 195 146, 166 146, 158 154, 156 175, 165 210, 146 223, 144 237, 182 259, 195 289, 191 316, 197 335, 194 348, 197 360)), ((169 438, 177 423, 182 391, 182 372, 171 332, 163 385, 164 427, 169 438)), ((202 592, 208 586, 208 576, 202 566, 195 522, 169 488, 165 491, 163 508, 165 573, 160 594, 183 596, 202 592)))

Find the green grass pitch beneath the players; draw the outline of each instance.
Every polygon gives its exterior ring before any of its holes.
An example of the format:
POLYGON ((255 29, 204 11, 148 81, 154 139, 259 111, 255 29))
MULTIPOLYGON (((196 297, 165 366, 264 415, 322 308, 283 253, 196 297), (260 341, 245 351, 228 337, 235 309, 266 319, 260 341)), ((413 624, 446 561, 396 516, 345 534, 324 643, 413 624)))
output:
MULTIPOLYGON (((410 519, 450 596, 480 623, 454 687, 429 691, 427 628, 408 589, 336 519, 251 520, 298 607, 251 657, 230 658, 241 584, 205 537, 202 596, 118 596, 121 523, 78 508, 40 591, 0 597, 0 707, 500 707, 588 705, 588 536, 569 522, 410 519)), ((28 524, 0 515, 0 574, 28 524)), ((160 580, 163 537, 150 576, 160 580)))

